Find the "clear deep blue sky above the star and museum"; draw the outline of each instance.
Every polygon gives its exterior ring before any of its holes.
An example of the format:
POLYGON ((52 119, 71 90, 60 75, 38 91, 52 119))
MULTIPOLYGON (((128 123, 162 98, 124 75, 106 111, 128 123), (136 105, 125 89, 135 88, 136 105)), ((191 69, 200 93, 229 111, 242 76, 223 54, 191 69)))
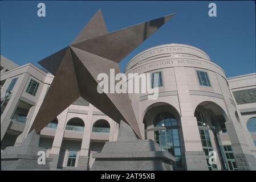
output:
POLYGON ((227 77, 255 72, 254 1, 1 1, 1 54, 19 65, 59 51, 101 9, 108 31, 177 13, 120 62, 121 71, 137 53, 168 43, 205 51, 227 77), (37 16, 44 2, 46 17, 37 16), (208 5, 217 5, 217 17, 208 5))

